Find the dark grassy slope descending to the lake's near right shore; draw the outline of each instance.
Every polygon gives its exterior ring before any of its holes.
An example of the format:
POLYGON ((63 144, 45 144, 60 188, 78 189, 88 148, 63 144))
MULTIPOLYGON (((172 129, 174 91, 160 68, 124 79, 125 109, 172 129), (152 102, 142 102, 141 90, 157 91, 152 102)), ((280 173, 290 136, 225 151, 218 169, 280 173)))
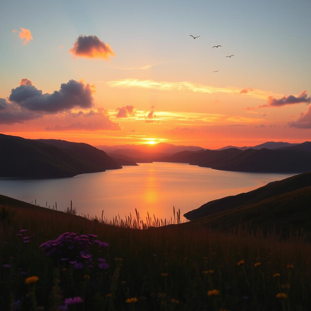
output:
MULTIPOLYGON (((311 173, 269 183, 256 190, 208 202, 184 216, 192 225, 311 230, 311 173)), ((185 224, 187 225, 187 224, 185 224)), ((311 234, 309 233, 309 237, 311 234)))

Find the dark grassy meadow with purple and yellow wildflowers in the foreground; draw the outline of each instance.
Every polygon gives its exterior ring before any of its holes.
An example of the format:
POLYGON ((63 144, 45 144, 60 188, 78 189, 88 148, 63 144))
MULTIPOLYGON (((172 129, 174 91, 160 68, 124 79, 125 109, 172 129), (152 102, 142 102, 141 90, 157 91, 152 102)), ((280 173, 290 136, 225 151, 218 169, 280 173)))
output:
POLYGON ((281 239, 274 231, 221 230, 202 222, 144 228, 0 196, 0 309, 262 311, 311 305, 311 247, 299 233, 281 239), (47 256, 50 249, 42 244, 64 233, 47 256), (67 244, 70 233, 78 238, 67 244))

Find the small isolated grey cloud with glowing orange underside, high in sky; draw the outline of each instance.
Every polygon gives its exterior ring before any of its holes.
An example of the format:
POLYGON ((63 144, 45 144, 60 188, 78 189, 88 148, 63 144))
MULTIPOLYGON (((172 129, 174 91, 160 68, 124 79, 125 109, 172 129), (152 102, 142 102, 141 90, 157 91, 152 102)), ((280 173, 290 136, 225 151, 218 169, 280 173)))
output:
POLYGON ((109 60, 110 56, 115 56, 110 45, 100 41, 95 35, 80 35, 69 52, 76 57, 104 58, 106 60, 109 60))

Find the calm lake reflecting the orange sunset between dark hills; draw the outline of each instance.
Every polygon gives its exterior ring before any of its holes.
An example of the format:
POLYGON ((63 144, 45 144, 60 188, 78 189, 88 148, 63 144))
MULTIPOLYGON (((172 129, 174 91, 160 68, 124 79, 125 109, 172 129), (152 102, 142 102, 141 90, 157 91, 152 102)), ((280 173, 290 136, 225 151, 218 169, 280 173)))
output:
MULTIPOLYGON (((121 218, 135 208, 145 219, 147 212, 170 218, 173 206, 185 212, 202 204, 247 192, 289 174, 239 173, 220 171, 183 163, 140 163, 123 169, 81 174, 59 179, 0 179, 0 194, 58 210, 76 207, 78 214, 121 218)), ((184 217, 181 217, 185 220, 184 217)))

